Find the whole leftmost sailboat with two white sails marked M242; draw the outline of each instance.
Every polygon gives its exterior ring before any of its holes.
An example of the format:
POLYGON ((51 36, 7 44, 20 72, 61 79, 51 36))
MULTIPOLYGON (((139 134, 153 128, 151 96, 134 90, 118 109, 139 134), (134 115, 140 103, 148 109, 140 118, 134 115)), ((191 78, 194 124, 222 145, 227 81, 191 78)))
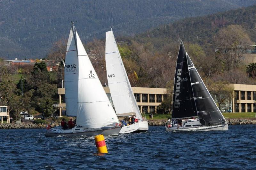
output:
POLYGON ((72 23, 65 60, 67 115, 76 116, 76 126, 50 129, 45 136, 95 136, 118 134, 116 116, 84 46, 72 23))

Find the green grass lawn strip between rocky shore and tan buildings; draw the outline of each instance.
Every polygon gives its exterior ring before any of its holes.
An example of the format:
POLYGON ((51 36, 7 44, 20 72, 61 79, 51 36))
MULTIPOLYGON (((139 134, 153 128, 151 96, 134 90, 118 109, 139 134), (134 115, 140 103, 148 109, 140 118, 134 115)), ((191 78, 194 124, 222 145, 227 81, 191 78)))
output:
MULTIPOLYGON (((222 113, 225 118, 255 118, 256 113, 222 113)), ((147 120, 149 115, 146 114, 147 120)), ((154 114, 153 120, 167 120, 172 117, 171 114, 154 114)))

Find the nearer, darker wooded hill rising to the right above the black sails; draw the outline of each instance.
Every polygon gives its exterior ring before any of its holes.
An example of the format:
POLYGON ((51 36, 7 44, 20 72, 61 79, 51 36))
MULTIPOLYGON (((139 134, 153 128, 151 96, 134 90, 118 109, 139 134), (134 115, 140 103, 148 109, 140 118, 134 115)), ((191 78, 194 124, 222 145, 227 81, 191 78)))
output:
POLYGON ((156 48, 180 39, 207 48, 213 44, 214 35, 228 25, 242 26, 251 40, 256 42, 256 5, 203 17, 185 18, 136 35, 135 39, 141 43, 150 42, 156 48))

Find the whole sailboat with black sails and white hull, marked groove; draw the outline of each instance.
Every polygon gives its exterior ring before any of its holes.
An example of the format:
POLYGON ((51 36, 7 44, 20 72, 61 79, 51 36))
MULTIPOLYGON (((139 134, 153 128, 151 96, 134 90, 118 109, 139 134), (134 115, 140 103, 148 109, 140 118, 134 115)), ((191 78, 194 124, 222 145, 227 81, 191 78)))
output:
POLYGON ((228 130, 228 123, 199 76, 184 45, 180 43, 174 77, 172 119, 188 119, 179 127, 166 131, 228 130))

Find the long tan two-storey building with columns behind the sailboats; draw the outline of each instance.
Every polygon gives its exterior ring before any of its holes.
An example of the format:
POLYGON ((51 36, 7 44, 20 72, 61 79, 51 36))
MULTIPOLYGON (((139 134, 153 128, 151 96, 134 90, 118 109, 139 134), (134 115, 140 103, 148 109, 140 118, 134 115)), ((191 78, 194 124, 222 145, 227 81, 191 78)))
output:
MULTIPOLYGON (((221 111, 256 112, 256 85, 230 84, 230 86, 234 89, 234 95, 230 102, 225 104, 226 106, 222 106, 221 111)), ((103 88, 113 105, 109 87, 103 88)), ((156 113, 157 106, 167 97, 165 88, 132 87, 132 90, 141 113, 156 113)), ((62 115, 61 108, 66 107, 66 104, 61 103, 61 95, 65 95, 65 88, 59 88, 58 94, 60 115, 62 115)))

